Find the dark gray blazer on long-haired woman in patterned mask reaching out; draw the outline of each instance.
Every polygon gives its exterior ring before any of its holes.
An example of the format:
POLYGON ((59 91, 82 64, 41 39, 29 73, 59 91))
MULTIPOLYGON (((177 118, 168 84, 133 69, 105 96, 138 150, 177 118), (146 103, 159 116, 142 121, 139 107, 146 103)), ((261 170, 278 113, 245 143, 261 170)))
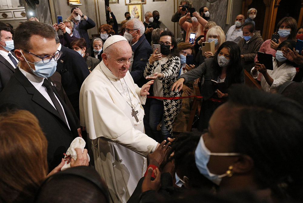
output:
MULTIPOLYGON (((190 82, 201 76, 204 76, 204 82, 201 84, 200 92, 203 99, 209 99, 215 93, 216 88, 215 85, 212 84, 211 80, 218 80, 218 74, 216 74, 215 69, 213 68, 214 58, 206 58, 204 62, 199 65, 197 68, 192 69, 180 76, 180 78, 184 78, 184 83, 190 82)), ((227 87, 229 87, 232 83, 245 82, 244 69, 241 69, 240 78, 235 78, 234 81, 227 82, 227 87)))

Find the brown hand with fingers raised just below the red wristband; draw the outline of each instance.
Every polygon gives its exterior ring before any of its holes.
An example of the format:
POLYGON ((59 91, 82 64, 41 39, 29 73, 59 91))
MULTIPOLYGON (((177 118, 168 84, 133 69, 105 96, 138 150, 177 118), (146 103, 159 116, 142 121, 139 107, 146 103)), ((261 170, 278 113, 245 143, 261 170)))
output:
POLYGON ((158 191, 161 187, 161 173, 158 168, 154 170, 155 180, 151 181, 151 174, 153 170, 151 167, 148 168, 147 174, 142 182, 141 191, 145 192, 148 190, 158 191))

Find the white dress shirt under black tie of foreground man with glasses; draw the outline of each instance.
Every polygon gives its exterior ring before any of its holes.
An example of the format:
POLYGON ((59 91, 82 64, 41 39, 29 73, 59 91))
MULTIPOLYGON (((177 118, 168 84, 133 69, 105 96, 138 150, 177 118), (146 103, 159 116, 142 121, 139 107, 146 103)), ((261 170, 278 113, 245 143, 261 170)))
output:
MULTIPOLYGON (((20 63, 19 63, 20 64, 20 63)), ((32 83, 32 85, 34 85, 34 87, 38 90, 38 92, 40 92, 42 94, 42 96, 56 109, 54 103, 52 102, 52 99, 49 97, 48 93, 47 93, 47 90, 45 87, 42 86, 43 84, 43 81, 45 78, 40 78, 36 75, 33 75, 33 74, 30 74, 28 72, 26 72, 25 70, 23 70, 22 68, 19 67, 19 70, 23 73, 23 75, 29 80, 29 82, 32 83)), ((54 93, 55 95, 55 93, 54 93)), ((55 98, 58 100, 62 110, 63 110, 63 113, 64 113, 64 116, 65 116, 65 121, 68 125, 68 128, 71 129, 69 127, 69 124, 68 124, 68 120, 67 120, 67 117, 65 115, 65 111, 64 111, 64 108, 61 104, 61 102, 59 101, 58 97, 55 95, 55 98)), ((56 109, 57 111, 57 109, 56 109)))

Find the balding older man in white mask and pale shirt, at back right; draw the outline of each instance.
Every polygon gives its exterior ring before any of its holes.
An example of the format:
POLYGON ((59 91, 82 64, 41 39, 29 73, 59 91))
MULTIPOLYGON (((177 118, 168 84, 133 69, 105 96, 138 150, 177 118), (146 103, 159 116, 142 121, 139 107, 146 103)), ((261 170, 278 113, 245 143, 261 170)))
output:
POLYGON ((242 26, 244 24, 244 15, 237 15, 235 25, 231 25, 225 37, 226 41, 232 41, 238 44, 240 39, 243 38, 242 26))

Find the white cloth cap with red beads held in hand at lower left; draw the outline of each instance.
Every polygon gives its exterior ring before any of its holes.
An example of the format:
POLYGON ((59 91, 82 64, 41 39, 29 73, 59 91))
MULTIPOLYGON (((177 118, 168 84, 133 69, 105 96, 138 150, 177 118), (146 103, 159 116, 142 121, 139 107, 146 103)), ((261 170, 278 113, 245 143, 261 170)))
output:
MULTIPOLYGON (((76 160, 77 159, 77 152, 76 152, 75 148, 80 148, 81 151, 82 151, 82 153, 83 153, 84 147, 85 147, 85 141, 84 141, 84 139, 80 138, 80 137, 76 137, 72 141, 72 143, 69 146, 69 148, 67 149, 64 158, 67 158, 68 155, 71 155, 71 158, 73 158, 74 160, 76 160)), ((89 155, 88 154, 86 154, 86 155, 87 155, 88 161, 90 161, 89 155)), ((67 168, 71 168, 71 163, 70 163, 70 161, 65 160, 65 164, 62 166, 61 171, 65 170, 67 168)))

